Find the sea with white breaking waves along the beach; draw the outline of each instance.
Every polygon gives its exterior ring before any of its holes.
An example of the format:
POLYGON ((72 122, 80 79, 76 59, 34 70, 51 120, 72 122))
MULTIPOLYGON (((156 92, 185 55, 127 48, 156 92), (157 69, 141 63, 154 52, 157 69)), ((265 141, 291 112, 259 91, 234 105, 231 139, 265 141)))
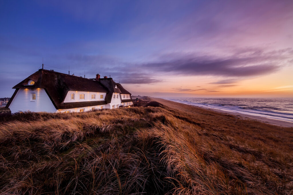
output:
POLYGON ((293 98, 164 98, 203 108, 293 123, 293 98))

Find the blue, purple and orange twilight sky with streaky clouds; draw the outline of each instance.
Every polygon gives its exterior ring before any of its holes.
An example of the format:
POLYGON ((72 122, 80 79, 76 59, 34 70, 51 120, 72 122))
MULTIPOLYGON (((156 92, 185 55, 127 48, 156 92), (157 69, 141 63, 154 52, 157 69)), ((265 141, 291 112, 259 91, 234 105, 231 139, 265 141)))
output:
POLYGON ((0 97, 41 68, 133 95, 293 97, 293 1, 0 0, 0 97))

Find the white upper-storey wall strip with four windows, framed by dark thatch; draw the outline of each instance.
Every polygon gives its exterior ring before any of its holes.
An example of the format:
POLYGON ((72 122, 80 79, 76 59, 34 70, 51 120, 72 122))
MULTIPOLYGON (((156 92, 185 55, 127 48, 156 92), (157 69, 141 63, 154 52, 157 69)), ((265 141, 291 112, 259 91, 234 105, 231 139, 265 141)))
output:
POLYGON ((83 91, 69 91, 64 99, 66 102, 79 102, 79 101, 103 101, 105 100, 106 93, 104 92, 83 92, 83 91), (74 94, 74 99, 71 99, 71 94, 74 94), (84 99, 79 99, 79 95, 84 94, 84 99), (96 99, 91 99, 91 95, 95 94, 96 99), (101 99, 100 96, 103 95, 101 99))

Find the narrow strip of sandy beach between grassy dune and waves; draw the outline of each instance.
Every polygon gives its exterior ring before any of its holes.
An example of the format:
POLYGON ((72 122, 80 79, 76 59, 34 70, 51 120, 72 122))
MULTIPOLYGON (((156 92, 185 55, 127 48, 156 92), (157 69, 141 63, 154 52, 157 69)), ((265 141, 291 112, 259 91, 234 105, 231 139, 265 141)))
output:
POLYGON ((166 100, 166 99, 161 99, 161 98, 153 98, 153 97, 150 97, 150 98, 154 101, 157 101, 159 103, 162 103, 162 104, 169 106, 169 107, 172 107, 172 108, 178 109, 178 107, 182 107, 182 108, 186 109, 187 107, 191 107, 191 108, 194 107, 197 109, 208 110, 208 111, 213 111, 213 112, 222 113, 222 114, 230 114, 230 115, 233 115, 237 118, 244 119, 244 120, 259 121, 259 122, 263 122, 265 124, 277 125, 280 127, 293 127, 292 122, 287 122, 287 121, 282 121, 282 120, 274 120, 274 119, 270 119, 270 118, 241 114, 241 113, 234 113, 234 112, 223 111, 223 110, 219 110, 219 109, 215 109, 215 108, 203 108, 200 106, 188 105, 188 104, 179 103, 176 101, 171 101, 171 100, 166 100))

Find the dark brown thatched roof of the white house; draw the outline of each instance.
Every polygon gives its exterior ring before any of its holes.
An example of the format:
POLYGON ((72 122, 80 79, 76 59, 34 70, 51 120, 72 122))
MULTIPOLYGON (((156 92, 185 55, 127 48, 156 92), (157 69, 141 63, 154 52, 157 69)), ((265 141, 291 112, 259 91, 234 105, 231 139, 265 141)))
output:
MULTIPOLYGON (((100 78, 96 81, 45 69, 38 70, 13 87, 13 89, 20 88, 44 88, 56 109, 103 105, 111 102, 114 92, 130 94, 121 86, 121 84, 115 83, 112 78, 100 78), (29 80, 33 80, 35 84, 28 85, 29 80), (115 86, 117 86, 117 88, 115 88, 115 86), (67 92, 70 90, 106 92, 107 94, 105 96, 105 101, 64 103, 67 92)), ((11 98, 7 106, 10 105, 12 99, 13 98, 11 98)))

